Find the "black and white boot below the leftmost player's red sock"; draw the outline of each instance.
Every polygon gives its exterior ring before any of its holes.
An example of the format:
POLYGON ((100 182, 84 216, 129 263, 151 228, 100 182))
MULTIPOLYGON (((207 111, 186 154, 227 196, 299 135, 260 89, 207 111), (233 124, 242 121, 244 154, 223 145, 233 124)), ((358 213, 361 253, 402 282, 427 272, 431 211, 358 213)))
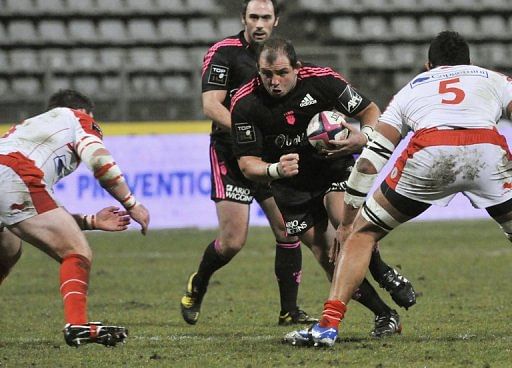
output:
POLYGON ((121 326, 104 326, 101 322, 89 322, 83 325, 64 326, 64 340, 73 347, 96 343, 104 346, 116 346, 124 343, 128 330, 121 326))

